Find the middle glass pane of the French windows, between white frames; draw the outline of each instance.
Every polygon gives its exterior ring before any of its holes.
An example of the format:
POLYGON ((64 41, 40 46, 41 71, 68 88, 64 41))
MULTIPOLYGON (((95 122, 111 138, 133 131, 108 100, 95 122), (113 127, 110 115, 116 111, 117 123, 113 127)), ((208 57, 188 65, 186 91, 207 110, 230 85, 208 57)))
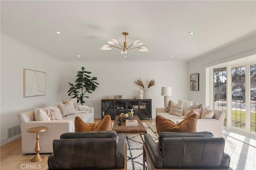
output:
POLYGON ((232 73, 232 126, 245 129, 245 66, 235 67, 232 73))

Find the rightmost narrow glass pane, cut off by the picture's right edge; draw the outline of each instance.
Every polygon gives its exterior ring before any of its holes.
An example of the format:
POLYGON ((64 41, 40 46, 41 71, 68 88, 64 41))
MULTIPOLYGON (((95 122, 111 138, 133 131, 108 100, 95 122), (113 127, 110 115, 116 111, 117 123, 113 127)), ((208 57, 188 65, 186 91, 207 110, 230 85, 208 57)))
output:
POLYGON ((250 122, 251 122, 251 132, 255 133, 256 127, 256 64, 250 65, 250 99, 251 99, 251 111, 250 111, 250 122))

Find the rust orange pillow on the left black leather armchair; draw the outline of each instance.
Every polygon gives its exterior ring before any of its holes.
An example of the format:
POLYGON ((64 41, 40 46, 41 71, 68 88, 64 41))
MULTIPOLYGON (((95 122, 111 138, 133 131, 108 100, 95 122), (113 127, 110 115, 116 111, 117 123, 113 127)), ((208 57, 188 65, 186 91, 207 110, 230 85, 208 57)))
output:
POLYGON ((99 123, 85 123, 80 117, 75 117, 75 132, 111 131, 112 121, 110 115, 106 115, 99 123))

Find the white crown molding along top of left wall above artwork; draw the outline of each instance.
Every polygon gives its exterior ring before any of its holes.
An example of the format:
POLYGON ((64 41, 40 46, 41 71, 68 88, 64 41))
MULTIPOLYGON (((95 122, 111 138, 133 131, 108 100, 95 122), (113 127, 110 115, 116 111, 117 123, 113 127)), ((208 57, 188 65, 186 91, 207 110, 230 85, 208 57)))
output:
POLYGON ((28 49, 28 50, 30 50, 30 51, 32 51, 32 52, 34 52, 34 53, 38 53, 39 55, 43 55, 44 57, 47 57, 47 58, 49 58, 49 59, 52 59, 52 60, 55 60, 55 61, 58 61, 58 62, 62 62, 60 59, 57 59, 56 57, 53 57, 52 55, 49 55, 49 54, 47 54, 47 53, 44 53, 43 51, 40 51, 40 50, 38 50, 38 49, 36 49, 36 48, 34 48, 34 47, 31 47, 31 46, 29 46, 29 45, 26 45, 25 43, 22 43, 22 42, 20 42, 20 41, 18 41, 18 40, 16 40, 16 39, 13 39, 12 37, 9 37, 9 36, 7 36, 7 35, 5 35, 5 34, 0 34, 0 39, 3 39, 3 40, 6 40, 6 41, 9 41, 9 42, 11 42, 11 43, 14 43, 15 45, 18 45, 18 46, 20 46, 20 47, 23 47, 23 48, 25 48, 25 49, 28 49))

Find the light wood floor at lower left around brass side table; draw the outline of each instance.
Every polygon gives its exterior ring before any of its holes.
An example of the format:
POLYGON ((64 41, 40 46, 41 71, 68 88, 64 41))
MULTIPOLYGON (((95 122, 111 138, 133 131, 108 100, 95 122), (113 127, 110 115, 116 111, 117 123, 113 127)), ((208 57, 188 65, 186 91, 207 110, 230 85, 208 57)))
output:
MULTIPOLYGON (((95 123, 98 123, 101 119, 94 119, 95 123)), ((155 119, 141 119, 142 122, 155 122, 155 119)), ((114 120, 112 120, 114 122, 114 120)), ((34 147, 34 146, 31 146, 34 147)), ((41 154, 44 156, 44 160, 40 162, 30 162, 35 154, 22 154, 21 150, 21 138, 16 139, 1 147, 0 152, 0 169, 1 170, 22 170, 22 169, 36 169, 47 170, 48 169, 48 156, 50 154, 41 154)))

